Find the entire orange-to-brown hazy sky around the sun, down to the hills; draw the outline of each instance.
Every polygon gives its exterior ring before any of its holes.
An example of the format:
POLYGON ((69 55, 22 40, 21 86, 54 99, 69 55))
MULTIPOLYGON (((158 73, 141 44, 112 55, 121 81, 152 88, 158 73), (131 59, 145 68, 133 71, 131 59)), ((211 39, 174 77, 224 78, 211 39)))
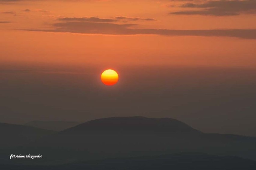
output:
POLYGON ((0 120, 142 115, 256 135, 255 14, 255 0, 0 0, 0 120))

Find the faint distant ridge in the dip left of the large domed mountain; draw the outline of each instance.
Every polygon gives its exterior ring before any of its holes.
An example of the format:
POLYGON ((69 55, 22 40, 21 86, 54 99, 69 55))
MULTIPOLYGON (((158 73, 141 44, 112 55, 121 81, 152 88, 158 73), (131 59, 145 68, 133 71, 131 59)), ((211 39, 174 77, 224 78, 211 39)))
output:
POLYGON ((62 131, 64 129, 73 127, 75 125, 80 124, 81 122, 74 122, 74 121, 31 121, 27 122, 26 126, 32 126, 36 128, 48 129, 53 131, 62 131))

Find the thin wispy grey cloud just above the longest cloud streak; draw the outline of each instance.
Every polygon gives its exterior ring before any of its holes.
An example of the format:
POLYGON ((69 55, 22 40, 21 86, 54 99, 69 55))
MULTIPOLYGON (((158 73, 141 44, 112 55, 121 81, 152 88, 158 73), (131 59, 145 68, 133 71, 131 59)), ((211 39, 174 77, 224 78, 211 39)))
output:
POLYGON ((65 18, 59 18, 59 21, 66 21, 66 22, 72 22, 72 21, 78 21, 78 22, 118 22, 118 21, 156 21, 156 19, 153 18, 133 18, 133 17, 126 17, 126 16, 116 16, 114 18, 99 18, 99 17, 65 17, 65 18))

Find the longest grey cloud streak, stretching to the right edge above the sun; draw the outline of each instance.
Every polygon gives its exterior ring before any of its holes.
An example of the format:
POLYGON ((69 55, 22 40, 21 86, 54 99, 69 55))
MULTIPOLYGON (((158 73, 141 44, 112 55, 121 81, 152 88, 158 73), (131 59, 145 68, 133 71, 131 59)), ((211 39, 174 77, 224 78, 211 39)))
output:
POLYGON ((243 39, 256 39, 256 29, 229 29, 229 30, 169 30, 169 29, 136 29, 136 24, 113 24, 97 22, 61 22, 53 24, 55 29, 27 31, 55 32, 55 33, 82 33, 105 35, 137 35, 154 34, 162 36, 220 36, 243 39))

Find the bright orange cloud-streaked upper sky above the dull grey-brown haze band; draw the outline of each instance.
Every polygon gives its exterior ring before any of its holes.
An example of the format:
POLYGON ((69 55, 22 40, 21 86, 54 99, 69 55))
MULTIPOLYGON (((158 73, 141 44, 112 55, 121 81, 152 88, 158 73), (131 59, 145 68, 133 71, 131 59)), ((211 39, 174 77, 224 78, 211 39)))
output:
POLYGON ((2 63, 256 66, 254 0, 0 0, 0 6, 2 63))

